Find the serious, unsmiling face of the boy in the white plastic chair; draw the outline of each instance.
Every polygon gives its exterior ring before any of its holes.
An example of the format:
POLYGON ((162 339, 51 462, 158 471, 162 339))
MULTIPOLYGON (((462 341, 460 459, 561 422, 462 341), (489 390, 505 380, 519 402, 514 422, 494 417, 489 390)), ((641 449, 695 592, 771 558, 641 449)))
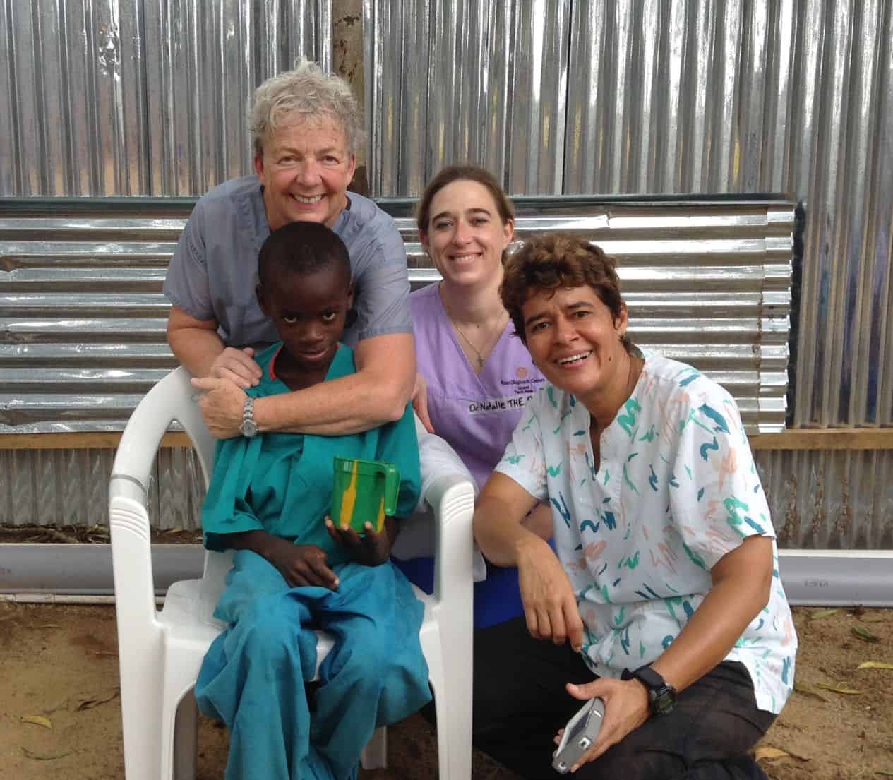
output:
POLYGON ((277 373, 321 382, 354 301, 346 268, 330 263, 308 274, 282 271, 270 285, 257 286, 257 299, 284 342, 277 373))

